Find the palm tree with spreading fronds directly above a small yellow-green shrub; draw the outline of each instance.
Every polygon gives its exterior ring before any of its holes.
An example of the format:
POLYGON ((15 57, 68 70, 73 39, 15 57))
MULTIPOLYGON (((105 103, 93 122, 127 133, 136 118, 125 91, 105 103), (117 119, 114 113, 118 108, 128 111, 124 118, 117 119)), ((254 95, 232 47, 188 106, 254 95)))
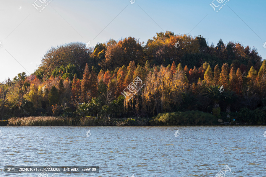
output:
POLYGON ((219 107, 219 102, 224 99, 225 92, 219 91, 220 86, 210 86, 207 88, 205 95, 210 98, 213 102, 213 107, 217 109, 219 107))

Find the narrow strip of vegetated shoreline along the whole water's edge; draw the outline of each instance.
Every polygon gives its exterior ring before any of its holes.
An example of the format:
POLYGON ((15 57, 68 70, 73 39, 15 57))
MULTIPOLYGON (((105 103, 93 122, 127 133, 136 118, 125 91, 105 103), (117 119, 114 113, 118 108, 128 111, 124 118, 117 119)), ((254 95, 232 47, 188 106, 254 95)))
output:
POLYGON ((266 124, 246 124, 231 122, 216 122, 211 124, 155 124, 153 118, 129 117, 13 117, 0 121, 0 126, 262 126, 266 124))

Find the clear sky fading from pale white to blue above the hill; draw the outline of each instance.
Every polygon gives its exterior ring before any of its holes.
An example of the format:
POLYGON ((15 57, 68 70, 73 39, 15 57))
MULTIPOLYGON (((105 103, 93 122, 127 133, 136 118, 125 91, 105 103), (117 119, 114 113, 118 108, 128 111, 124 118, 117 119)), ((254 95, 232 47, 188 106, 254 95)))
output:
POLYGON ((146 43, 161 31, 201 35, 215 46, 233 40, 265 59, 266 1, 227 1, 0 0, 0 81, 33 73, 52 46, 128 36, 146 43))

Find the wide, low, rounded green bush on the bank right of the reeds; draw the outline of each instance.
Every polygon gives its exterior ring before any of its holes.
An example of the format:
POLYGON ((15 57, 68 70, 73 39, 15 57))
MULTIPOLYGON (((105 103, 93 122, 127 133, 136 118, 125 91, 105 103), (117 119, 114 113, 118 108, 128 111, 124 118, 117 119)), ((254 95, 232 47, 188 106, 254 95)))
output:
POLYGON ((160 113, 150 121, 152 125, 212 125, 215 117, 201 111, 160 113))

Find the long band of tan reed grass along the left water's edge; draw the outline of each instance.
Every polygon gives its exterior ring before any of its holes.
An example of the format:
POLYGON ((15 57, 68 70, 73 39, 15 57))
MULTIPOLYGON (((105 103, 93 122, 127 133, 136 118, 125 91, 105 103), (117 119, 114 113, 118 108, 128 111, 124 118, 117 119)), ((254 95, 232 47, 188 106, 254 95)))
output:
POLYGON ((95 117, 12 117, 8 126, 143 126, 149 125, 147 118, 95 118, 95 117))

